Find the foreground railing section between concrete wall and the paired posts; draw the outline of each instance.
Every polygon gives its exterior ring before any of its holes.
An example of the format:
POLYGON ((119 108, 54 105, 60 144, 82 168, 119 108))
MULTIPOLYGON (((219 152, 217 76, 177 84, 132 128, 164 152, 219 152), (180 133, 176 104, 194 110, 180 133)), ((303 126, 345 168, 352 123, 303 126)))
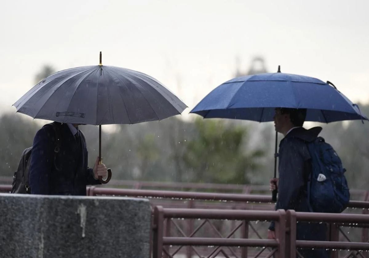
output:
MULTIPOLYGON (((191 246, 193 251, 199 256, 199 251, 193 246, 216 246, 214 250, 208 254, 207 257, 215 257, 219 254, 223 254, 225 257, 228 252, 237 257, 231 248, 225 251, 222 247, 243 247, 242 258, 248 257, 247 248, 245 247, 272 247, 267 257, 272 257, 273 254, 279 255, 279 257, 286 256, 286 212, 284 210, 278 211, 256 211, 256 210, 211 210, 211 209, 170 209, 163 208, 162 206, 156 206, 154 209, 154 225, 153 225, 153 258, 163 257, 163 253, 166 257, 172 258, 183 246, 191 246), (236 227, 225 238, 203 238, 193 237, 193 235, 200 229, 197 227, 187 237, 166 237, 164 236, 164 220, 167 219, 222 219, 222 220, 241 220, 241 224, 236 227), (276 229, 278 230, 278 237, 276 240, 269 239, 250 239, 248 238, 248 222, 250 220, 274 220, 276 222, 276 229), (238 228, 242 227, 242 238, 230 238, 232 234, 238 228), (165 248, 168 245, 179 245, 172 254, 165 248)), ((265 248, 262 250, 264 251, 265 248)), ((255 256, 258 257, 261 252, 255 256)))

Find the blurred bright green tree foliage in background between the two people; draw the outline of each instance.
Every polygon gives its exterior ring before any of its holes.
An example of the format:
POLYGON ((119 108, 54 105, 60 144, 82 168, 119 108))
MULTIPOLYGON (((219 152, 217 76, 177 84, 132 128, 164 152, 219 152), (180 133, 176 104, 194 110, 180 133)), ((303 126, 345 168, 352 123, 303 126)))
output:
POLYGON ((186 145, 183 159, 192 172, 193 181, 246 184, 260 167, 257 158, 262 149, 244 149, 247 129, 227 126, 221 120, 197 119, 197 136, 186 145))

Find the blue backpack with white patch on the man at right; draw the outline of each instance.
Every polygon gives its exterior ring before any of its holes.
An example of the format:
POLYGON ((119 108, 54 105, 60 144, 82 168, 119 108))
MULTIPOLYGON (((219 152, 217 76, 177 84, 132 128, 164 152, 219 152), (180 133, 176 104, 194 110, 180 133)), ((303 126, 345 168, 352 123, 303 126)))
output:
POLYGON ((317 137, 307 143, 312 171, 308 180, 311 212, 341 213, 350 200, 345 168, 332 146, 317 137))

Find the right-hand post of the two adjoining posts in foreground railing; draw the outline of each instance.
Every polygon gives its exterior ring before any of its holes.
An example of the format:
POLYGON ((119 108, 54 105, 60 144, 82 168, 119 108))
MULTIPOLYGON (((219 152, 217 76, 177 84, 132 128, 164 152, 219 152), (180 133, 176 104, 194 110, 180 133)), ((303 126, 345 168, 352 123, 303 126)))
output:
POLYGON ((286 213, 286 258, 296 258, 296 212, 286 213))

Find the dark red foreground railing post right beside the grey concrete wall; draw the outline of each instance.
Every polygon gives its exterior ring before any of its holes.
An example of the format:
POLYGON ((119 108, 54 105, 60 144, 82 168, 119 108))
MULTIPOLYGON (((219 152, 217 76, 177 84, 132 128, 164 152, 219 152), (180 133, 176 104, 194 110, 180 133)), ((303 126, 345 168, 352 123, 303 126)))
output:
POLYGON ((164 211, 162 206, 154 208, 154 236, 152 257, 162 258, 163 254, 163 227, 164 227, 164 211))

